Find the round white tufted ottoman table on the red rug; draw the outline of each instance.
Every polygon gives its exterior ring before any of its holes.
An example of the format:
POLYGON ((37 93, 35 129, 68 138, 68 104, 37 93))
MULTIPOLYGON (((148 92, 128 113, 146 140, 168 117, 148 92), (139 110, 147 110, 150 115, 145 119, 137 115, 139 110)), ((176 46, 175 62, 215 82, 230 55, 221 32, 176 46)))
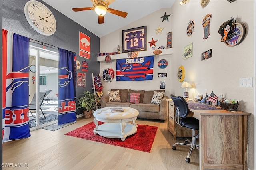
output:
POLYGON ((123 112, 111 112, 110 107, 104 107, 94 111, 94 120, 96 127, 94 128, 94 134, 99 134, 107 138, 121 138, 122 141, 127 136, 137 132, 137 124, 135 120, 139 115, 136 109, 130 107, 122 107, 123 112), (105 122, 102 125, 98 125, 98 121, 105 122), (128 123, 133 121, 132 123, 128 123))

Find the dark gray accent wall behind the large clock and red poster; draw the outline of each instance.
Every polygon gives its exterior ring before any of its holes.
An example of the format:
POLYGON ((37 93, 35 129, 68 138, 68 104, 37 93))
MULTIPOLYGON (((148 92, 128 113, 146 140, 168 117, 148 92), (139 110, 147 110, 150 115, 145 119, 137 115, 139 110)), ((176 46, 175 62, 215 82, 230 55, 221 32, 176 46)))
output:
MULTIPOLYGON (((98 75, 100 72, 100 63, 97 61, 98 53, 100 53, 100 38, 86 28, 80 26, 64 14, 58 12, 48 4, 41 0, 38 0, 42 4, 45 4, 54 14, 57 22, 57 30, 51 36, 44 36, 36 32, 30 24, 28 24, 25 14, 24 6, 28 0, 4 0, 2 1, 2 28, 16 34, 31 38, 33 40, 53 45, 54 47, 66 49, 76 53, 77 60, 82 64, 82 61, 88 62, 88 72, 82 71, 82 68, 78 72, 86 73, 86 87, 76 88, 76 97, 79 98, 80 94, 85 90, 93 92, 92 89, 92 73, 98 75), (79 56, 79 32, 82 32, 90 37, 91 57, 85 59, 79 56)), ((84 21, 86 22, 86 21, 84 21)), ((35 43, 33 43, 35 45, 35 43)), ((39 43, 38 47, 42 47, 39 43)), ((46 49, 54 49, 46 45, 46 49)), ((56 51, 57 48, 55 48, 56 51)), ((81 114, 82 110, 77 110, 77 115, 81 114)))

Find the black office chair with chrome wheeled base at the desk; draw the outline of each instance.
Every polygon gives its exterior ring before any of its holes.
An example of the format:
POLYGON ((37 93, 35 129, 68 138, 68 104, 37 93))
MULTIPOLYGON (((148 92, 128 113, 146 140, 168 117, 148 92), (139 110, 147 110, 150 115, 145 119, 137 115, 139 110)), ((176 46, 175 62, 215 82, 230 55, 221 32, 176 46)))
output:
POLYGON ((188 103, 186 100, 181 97, 181 96, 174 96, 171 95, 172 101, 174 102, 175 105, 175 121, 180 125, 181 127, 187 127, 192 129, 192 142, 188 139, 185 140, 185 143, 175 143, 172 146, 173 150, 176 150, 176 145, 185 145, 189 146, 190 150, 188 151, 188 155, 185 158, 186 162, 190 162, 190 155, 193 149, 198 149, 199 150, 199 144, 196 144, 196 138, 198 138, 199 134, 195 136, 195 130, 199 130, 199 120, 194 118, 194 117, 187 117, 189 113, 188 109, 188 103))

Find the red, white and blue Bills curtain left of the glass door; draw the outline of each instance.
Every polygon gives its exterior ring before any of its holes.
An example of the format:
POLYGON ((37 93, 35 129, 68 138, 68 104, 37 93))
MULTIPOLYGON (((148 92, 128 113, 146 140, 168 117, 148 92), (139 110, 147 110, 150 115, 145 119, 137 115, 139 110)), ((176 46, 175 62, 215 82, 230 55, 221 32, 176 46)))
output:
POLYGON ((30 137, 29 38, 3 34, 3 142, 30 137))

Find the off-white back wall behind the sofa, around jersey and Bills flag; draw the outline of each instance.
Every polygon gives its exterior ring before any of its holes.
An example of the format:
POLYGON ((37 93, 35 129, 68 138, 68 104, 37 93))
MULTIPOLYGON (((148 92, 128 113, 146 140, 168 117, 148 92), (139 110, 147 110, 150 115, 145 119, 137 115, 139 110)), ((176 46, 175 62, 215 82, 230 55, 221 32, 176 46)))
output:
MULTIPOLYGON (((160 16, 164 16, 164 12, 166 14, 171 13, 170 8, 164 8, 162 10, 158 10, 140 20, 137 20, 136 22, 129 24, 119 30, 116 30, 115 32, 112 32, 102 38, 100 38, 100 52, 101 53, 107 53, 107 52, 116 52, 117 45, 120 45, 120 52, 122 53, 122 30, 141 27, 141 26, 147 26, 147 51, 152 51, 152 47, 155 47, 155 49, 158 49, 160 46, 164 46, 166 48, 167 45, 167 33, 171 32, 171 17, 168 17, 168 20, 164 20, 162 22, 162 18, 160 16), (155 29, 158 29, 158 26, 160 25, 161 28, 164 28, 162 30, 162 34, 158 33, 156 34, 155 29), (152 38, 154 41, 157 40, 155 43, 156 46, 151 46, 150 43, 152 38)), ((153 52, 153 51, 152 51, 153 52)), ((154 55, 152 53, 152 55, 154 55)), ((145 56, 146 57, 146 56, 145 56)), ((145 81, 116 81, 113 80, 112 82, 104 82, 103 84, 103 93, 107 94, 107 91, 111 88, 118 88, 118 89, 133 89, 133 90, 157 90, 160 89, 160 81, 166 81, 166 92, 164 95, 167 95, 170 97, 170 86, 171 86, 171 57, 172 55, 162 55, 162 56, 155 56, 154 57, 154 75, 153 80, 145 80, 145 81), (168 66, 164 69, 160 69, 158 67, 158 61, 160 59, 166 59, 168 61, 168 66), (167 73, 167 78, 158 78, 158 73, 167 73)), ((128 57, 127 57, 128 58, 128 57)), ((110 63, 106 63, 105 61, 100 62, 100 74, 102 76, 102 73, 104 69, 106 68, 112 68, 116 71, 116 61, 112 60, 110 63)), ((116 77, 115 77, 116 78, 116 77)))

